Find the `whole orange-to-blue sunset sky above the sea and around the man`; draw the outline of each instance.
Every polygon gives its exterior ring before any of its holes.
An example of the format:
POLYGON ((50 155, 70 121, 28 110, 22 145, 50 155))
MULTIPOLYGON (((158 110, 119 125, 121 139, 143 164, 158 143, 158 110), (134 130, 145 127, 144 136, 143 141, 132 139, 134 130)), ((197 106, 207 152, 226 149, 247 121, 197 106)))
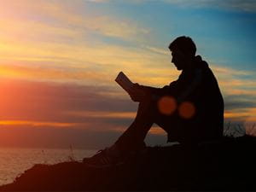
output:
MULTIPOLYGON (((167 47, 181 35, 217 77, 225 122, 251 126, 255 32, 253 0, 0 0, 0 147, 113 143, 137 111, 115 77, 177 79, 167 47)), ((166 143, 156 125, 147 139, 166 143)))

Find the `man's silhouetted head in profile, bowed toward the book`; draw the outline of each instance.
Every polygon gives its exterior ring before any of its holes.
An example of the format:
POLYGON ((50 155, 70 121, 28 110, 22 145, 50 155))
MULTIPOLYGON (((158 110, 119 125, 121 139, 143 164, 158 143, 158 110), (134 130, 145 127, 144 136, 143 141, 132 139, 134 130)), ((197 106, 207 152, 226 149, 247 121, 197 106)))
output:
POLYGON ((172 63, 177 67, 177 70, 190 67, 196 52, 195 43, 191 38, 178 37, 172 41, 169 49, 172 51, 172 63))

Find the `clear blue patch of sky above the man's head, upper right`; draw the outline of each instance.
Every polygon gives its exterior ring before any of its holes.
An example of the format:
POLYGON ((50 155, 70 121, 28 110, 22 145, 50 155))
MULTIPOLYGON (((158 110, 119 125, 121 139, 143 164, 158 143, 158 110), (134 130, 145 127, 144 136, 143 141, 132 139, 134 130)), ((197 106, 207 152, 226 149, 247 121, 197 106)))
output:
MULTIPOLYGON (((149 45, 165 49, 173 38, 184 34, 193 38, 199 53, 207 55, 212 61, 242 70, 254 69, 256 16, 253 11, 207 4, 202 6, 200 1, 197 5, 183 5, 183 1, 178 5, 172 1, 138 2, 91 3, 89 8, 147 27, 152 34, 152 39, 147 42, 149 45)), ((120 42, 113 39, 115 43, 120 42)))

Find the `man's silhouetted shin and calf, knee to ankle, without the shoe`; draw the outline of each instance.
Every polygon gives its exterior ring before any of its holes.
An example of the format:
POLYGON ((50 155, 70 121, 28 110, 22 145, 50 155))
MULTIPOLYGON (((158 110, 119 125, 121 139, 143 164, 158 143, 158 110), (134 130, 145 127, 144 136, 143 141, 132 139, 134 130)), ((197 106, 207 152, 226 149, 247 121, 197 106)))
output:
POLYGON ((136 119, 114 144, 122 153, 144 146, 144 138, 154 123, 155 102, 147 99, 139 103, 136 119))

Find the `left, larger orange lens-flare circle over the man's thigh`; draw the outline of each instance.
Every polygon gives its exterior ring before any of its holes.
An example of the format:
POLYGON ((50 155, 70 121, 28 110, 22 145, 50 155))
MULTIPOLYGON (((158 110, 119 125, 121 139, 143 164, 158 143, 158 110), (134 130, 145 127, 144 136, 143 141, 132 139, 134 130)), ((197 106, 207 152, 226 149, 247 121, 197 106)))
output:
POLYGON ((177 102, 172 96, 163 96, 157 103, 160 113, 171 115, 177 108, 177 102))

